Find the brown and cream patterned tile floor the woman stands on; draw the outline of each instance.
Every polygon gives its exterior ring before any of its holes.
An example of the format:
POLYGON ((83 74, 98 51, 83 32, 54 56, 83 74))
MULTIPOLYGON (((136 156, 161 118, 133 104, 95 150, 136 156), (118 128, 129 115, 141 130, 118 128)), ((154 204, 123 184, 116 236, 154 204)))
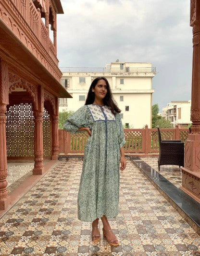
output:
POLYGON ((81 169, 77 158, 60 161, 0 219, 0 256, 200 256, 200 236, 130 160, 120 172, 120 214, 110 221, 120 246, 102 232, 91 242, 91 224, 77 220, 81 169))

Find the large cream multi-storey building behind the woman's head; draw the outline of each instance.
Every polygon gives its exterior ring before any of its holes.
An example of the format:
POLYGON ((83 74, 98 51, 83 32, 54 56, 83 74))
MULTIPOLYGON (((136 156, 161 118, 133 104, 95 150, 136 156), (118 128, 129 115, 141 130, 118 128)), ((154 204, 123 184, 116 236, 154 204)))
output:
POLYGON ((113 98, 122 110, 122 123, 127 128, 151 128, 152 78, 155 68, 150 63, 112 62, 105 68, 61 68, 62 85, 72 99, 60 99, 59 111, 76 111, 85 104, 91 82, 106 77, 113 98))

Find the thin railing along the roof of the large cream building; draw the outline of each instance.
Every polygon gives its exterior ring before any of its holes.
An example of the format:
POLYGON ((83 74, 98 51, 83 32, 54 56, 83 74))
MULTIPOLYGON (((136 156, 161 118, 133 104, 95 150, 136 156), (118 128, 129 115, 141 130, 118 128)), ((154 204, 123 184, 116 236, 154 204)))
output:
POLYGON ((154 67, 143 68, 75 68, 75 67, 60 67, 62 72, 92 72, 92 73, 156 73, 154 67))

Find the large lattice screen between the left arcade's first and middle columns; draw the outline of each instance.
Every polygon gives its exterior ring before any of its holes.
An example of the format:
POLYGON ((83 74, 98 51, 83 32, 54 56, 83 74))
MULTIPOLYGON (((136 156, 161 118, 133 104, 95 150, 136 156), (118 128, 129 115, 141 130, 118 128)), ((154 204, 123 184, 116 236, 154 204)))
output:
POLYGON ((6 112, 7 156, 34 156, 34 116, 32 104, 10 106, 6 112))

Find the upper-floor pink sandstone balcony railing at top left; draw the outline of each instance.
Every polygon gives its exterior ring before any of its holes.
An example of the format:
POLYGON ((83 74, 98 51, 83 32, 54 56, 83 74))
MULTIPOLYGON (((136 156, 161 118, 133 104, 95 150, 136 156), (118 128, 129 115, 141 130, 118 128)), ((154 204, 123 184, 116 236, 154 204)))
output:
POLYGON ((50 41, 48 28, 41 19, 39 8, 32 0, 0 1, 0 18, 13 30, 23 44, 60 81, 56 49, 50 41))

